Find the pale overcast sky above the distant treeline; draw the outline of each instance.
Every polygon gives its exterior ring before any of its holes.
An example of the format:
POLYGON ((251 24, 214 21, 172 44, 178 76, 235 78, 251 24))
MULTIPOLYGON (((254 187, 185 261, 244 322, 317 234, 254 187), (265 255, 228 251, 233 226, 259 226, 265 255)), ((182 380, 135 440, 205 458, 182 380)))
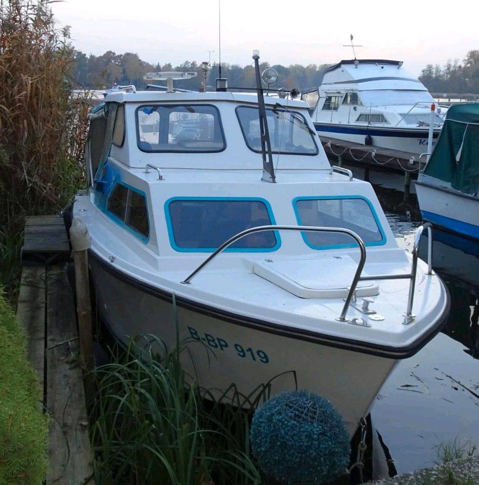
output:
POLYGON ((358 59, 403 61, 416 76, 427 64, 462 62, 479 50, 474 0, 64 0, 51 6, 57 25, 71 26, 75 49, 95 56, 133 52, 151 64, 217 63, 220 31, 221 62, 241 67, 252 63, 254 49, 271 65, 353 59, 351 34, 361 45, 358 59))

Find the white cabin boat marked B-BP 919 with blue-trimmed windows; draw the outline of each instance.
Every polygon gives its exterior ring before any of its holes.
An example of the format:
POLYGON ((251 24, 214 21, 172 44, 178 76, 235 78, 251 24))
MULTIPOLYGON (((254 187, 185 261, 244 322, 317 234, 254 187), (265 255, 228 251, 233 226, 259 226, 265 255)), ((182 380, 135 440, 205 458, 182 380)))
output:
POLYGON ((330 167, 308 105, 258 84, 118 91, 90 115, 73 215, 98 308, 120 342, 173 346, 174 294, 200 385, 308 389, 353 434, 398 359, 438 332, 446 289, 417 244, 397 246, 371 185, 330 167))

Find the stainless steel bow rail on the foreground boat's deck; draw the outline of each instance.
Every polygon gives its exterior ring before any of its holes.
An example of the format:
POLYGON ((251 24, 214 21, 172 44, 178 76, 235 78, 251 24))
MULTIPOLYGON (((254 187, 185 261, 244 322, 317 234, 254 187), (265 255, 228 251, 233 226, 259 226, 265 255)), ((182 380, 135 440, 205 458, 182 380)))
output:
POLYGON ((250 229, 246 229, 244 231, 238 232, 234 236, 230 237, 226 240, 216 251, 210 254, 189 276, 187 276, 182 283, 189 284, 191 280, 217 255, 222 253, 225 249, 235 243, 238 239, 241 239, 248 234, 252 234, 254 232, 264 232, 264 231, 305 231, 305 232, 335 232, 340 234, 346 234, 352 237, 356 243, 358 243, 359 250, 361 252, 361 256, 359 259, 358 267, 353 277, 353 282, 349 287, 349 292, 344 300, 344 306, 342 308, 341 314, 339 317, 336 318, 339 322, 347 322, 349 321, 346 318, 347 309, 351 304, 351 300, 356 293, 356 287, 359 281, 369 281, 369 280, 382 280, 382 279, 410 279, 411 282, 409 284, 409 296, 408 296, 408 307, 405 313, 403 313, 404 320, 403 323, 407 325, 414 320, 415 315, 412 313, 412 306, 414 301, 414 289, 416 286, 416 272, 417 272, 417 258, 418 258, 418 251, 419 251, 419 240, 421 238, 421 234, 424 229, 427 228, 428 231, 428 245, 427 245, 427 273, 428 275, 433 275, 432 272, 432 231, 431 231, 431 223, 426 222, 422 226, 420 226, 416 233, 416 238, 414 241, 414 247, 412 251, 412 265, 411 265, 411 272, 406 274, 378 274, 374 276, 361 276, 363 272, 364 264, 366 262, 366 247, 364 245, 363 240, 361 237, 356 234, 356 232, 351 231, 349 229, 344 229, 342 227, 315 227, 315 226, 258 226, 258 227, 251 227, 250 229))

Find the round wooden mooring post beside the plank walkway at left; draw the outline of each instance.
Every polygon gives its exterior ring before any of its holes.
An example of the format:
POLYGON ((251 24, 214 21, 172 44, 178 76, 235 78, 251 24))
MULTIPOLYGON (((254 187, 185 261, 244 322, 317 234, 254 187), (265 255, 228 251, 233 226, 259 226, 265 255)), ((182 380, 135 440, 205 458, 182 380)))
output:
POLYGON ((70 227, 70 240, 75 262, 76 311, 80 357, 85 369, 93 368, 93 325, 88 271, 88 249, 91 239, 88 228, 75 216, 70 227))

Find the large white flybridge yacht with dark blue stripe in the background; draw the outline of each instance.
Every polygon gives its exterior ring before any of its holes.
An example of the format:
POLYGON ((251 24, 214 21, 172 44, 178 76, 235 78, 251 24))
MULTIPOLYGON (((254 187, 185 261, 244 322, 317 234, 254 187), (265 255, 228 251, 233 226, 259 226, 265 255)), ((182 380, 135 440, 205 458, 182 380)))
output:
MULTIPOLYGON (((347 60, 324 71, 319 88, 301 93, 320 136, 420 155, 445 112, 401 61, 347 60), (433 105, 433 108, 431 108, 433 105)), ((433 141, 434 143, 434 141, 433 141)))

